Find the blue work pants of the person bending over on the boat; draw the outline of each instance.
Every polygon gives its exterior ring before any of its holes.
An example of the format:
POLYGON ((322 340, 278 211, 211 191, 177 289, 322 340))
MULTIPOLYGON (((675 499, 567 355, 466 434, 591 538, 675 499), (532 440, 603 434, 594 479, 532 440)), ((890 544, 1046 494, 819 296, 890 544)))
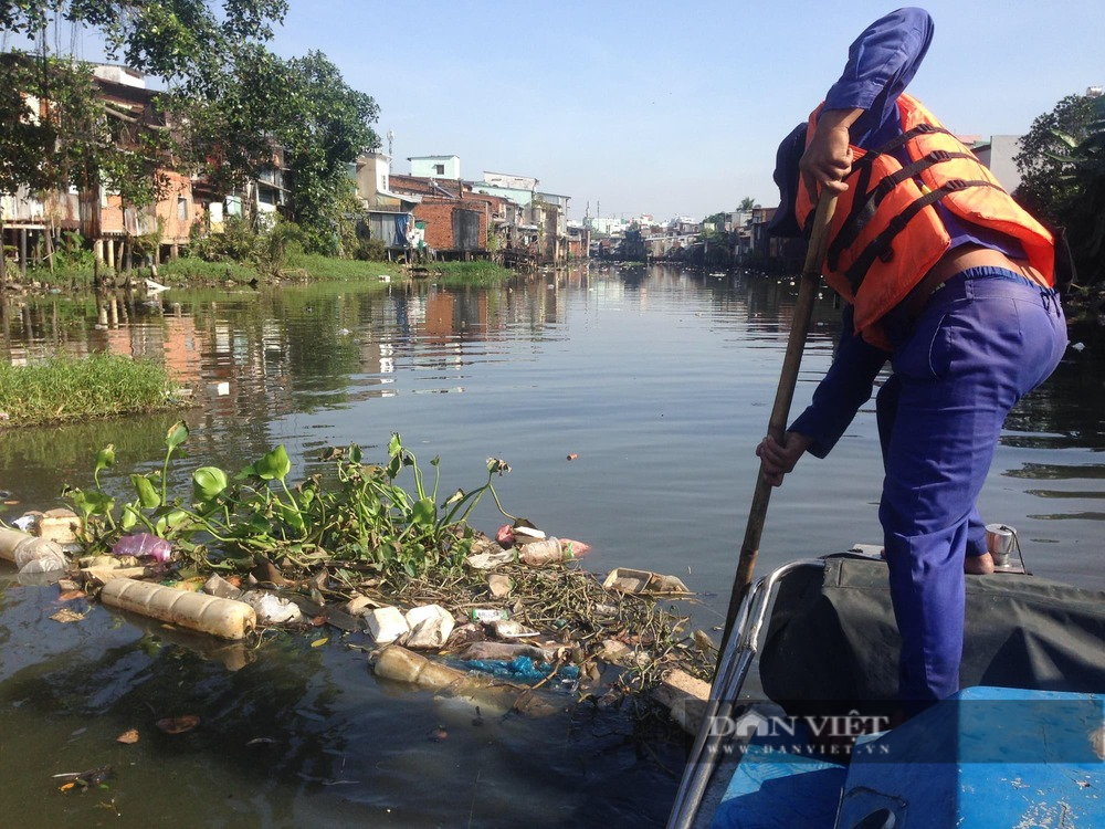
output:
POLYGON ((976 501, 1006 416, 1051 375, 1066 342, 1055 292, 976 267, 944 283, 895 343, 877 400, 878 517, 907 713, 959 690, 964 557, 985 552, 976 501))

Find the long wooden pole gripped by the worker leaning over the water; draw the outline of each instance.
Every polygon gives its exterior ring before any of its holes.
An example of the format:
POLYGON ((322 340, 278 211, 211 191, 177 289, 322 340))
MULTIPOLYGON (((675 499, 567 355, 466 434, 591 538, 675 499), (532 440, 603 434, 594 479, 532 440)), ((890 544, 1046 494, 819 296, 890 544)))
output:
MULTIPOLYGON (((802 266, 802 281, 798 288, 798 304, 794 306, 794 318, 790 326, 790 338, 787 340, 787 355, 779 375, 779 388, 775 395, 775 408, 768 421, 767 433, 780 444, 790 417, 790 403, 794 398, 794 387, 798 385, 798 369, 802 363, 802 351, 806 349, 806 337, 810 321, 813 317, 813 304, 821 284, 821 265, 824 262, 825 249, 829 246, 829 222, 836 209, 836 193, 825 190, 818 202, 818 211, 813 218, 813 231, 810 234, 810 246, 806 252, 806 264, 802 266)), ((767 517, 767 505, 771 499, 772 486, 764 478, 764 466, 756 478, 756 490, 753 493, 753 504, 748 513, 748 526, 745 528, 745 541, 740 547, 740 558, 737 562, 737 574, 733 580, 733 592, 729 596, 729 610, 725 617, 725 632, 718 657, 725 651, 733 622, 744 598, 745 591, 753 581, 753 569, 759 555, 760 536, 764 533, 764 521, 767 517)))

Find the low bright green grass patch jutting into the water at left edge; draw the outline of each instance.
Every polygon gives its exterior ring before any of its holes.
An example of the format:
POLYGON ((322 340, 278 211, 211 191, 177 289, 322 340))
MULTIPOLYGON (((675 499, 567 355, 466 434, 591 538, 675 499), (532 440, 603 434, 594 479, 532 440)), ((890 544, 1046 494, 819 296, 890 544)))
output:
POLYGON ((0 364, 0 423, 40 426, 161 411, 179 406, 171 399, 176 390, 162 366, 109 354, 0 364))

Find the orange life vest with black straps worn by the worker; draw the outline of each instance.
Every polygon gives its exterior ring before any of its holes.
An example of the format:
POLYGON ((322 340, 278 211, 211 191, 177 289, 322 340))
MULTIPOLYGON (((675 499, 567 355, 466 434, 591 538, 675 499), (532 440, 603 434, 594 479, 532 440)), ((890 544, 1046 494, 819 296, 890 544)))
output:
MULTIPOLYGON (((1051 233, 1001 188, 989 169, 916 98, 898 98, 902 135, 873 150, 852 146, 849 188, 836 199, 829 231, 825 282, 855 306, 855 328, 888 348, 878 324, 951 244, 934 204, 967 222, 1010 235, 1029 263, 1054 284, 1051 233), (911 164, 893 151, 904 148, 911 164)), ((820 107, 810 115, 807 141, 820 107)), ((814 204, 798 188, 796 213, 807 227, 814 204)))

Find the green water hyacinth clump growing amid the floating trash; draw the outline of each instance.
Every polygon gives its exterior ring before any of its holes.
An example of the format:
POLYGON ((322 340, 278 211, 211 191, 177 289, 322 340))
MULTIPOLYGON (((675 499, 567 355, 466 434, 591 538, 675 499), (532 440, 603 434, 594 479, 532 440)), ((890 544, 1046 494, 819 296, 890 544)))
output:
POLYGON ((92 549, 110 549, 127 533, 147 532, 169 541, 200 570, 249 569, 260 554, 304 569, 359 563, 382 576, 415 576, 460 565, 476 538, 469 516, 484 494, 514 520, 493 485, 511 469, 504 461, 488 459, 483 485, 457 490, 439 504, 440 459, 430 462, 431 484, 398 433, 388 442, 386 463, 366 463, 357 444, 332 448, 323 460, 334 462, 333 474, 294 486, 283 445, 236 474, 200 466, 186 499, 170 493, 169 468, 188 434, 182 422, 167 431, 164 463, 129 476, 129 500, 101 486, 99 473, 115 462, 112 447, 96 455, 93 489, 65 489, 92 549))

